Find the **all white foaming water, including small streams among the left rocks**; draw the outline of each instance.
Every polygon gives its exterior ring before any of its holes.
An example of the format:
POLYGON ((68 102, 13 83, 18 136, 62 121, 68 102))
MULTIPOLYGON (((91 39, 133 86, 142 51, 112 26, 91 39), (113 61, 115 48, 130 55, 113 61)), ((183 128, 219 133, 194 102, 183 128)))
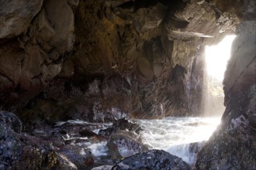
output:
MULTIPOLYGON (((162 149, 172 155, 182 158, 189 165, 194 165, 197 151, 192 151, 192 143, 196 143, 197 150, 202 147, 202 141, 207 141, 220 124, 220 117, 166 117, 164 119, 154 120, 131 120, 140 124, 143 131, 140 133, 144 137, 144 143, 152 149, 162 149)), ((86 121, 66 121, 57 122, 56 126, 63 124, 85 124, 95 126, 94 132, 99 129, 105 129, 112 124, 93 124, 86 121), (100 128, 99 128, 100 127, 100 128)), ((67 136, 67 139, 78 138, 67 136)), ((81 139, 81 138, 80 138, 81 139)), ((87 138, 85 138, 87 139, 87 138)), ((89 148, 92 155, 99 161, 102 157, 109 156, 109 149, 106 146, 107 141, 99 143, 81 142, 81 145, 89 148)), ((196 149, 195 149, 196 150, 196 149)), ((123 151, 126 153, 126 151, 123 151)))

